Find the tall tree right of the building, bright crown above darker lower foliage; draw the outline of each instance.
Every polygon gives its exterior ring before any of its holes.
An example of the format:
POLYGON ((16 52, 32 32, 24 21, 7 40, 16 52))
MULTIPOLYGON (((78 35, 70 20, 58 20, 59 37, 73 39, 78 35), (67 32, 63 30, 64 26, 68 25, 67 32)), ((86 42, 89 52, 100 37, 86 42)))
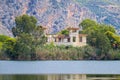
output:
MULTIPOLYGON (((87 42, 89 45, 96 48, 96 54, 98 56, 106 57, 108 51, 111 49, 111 39, 108 33, 115 34, 113 26, 99 24, 93 20, 86 19, 80 24, 83 27, 82 33, 87 34, 87 42)), ((112 38, 113 39, 113 38, 112 38)))

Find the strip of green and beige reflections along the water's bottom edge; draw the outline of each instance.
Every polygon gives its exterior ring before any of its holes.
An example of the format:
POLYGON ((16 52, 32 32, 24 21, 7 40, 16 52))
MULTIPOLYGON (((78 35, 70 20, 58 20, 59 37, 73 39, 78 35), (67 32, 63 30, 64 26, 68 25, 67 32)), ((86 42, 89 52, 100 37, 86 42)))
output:
POLYGON ((120 75, 87 75, 86 79, 80 79, 81 77, 79 74, 0 75, 0 80, 120 80, 120 75))

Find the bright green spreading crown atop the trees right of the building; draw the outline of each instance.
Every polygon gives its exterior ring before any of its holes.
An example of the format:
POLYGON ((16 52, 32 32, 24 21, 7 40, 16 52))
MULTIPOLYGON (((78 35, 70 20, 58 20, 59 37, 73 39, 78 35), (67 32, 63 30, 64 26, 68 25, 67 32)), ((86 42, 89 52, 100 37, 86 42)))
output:
POLYGON ((95 30, 99 30, 99 31, 101 31, 101 33, 105 33, 107 31, 111 31, 111 32, 115 33, 115 28, 113 26, 106 25, 106 24, 99 24, 90 19, 83 20, 79 24, 79 26, 82 26, 84 33, 94 32, 95 30))

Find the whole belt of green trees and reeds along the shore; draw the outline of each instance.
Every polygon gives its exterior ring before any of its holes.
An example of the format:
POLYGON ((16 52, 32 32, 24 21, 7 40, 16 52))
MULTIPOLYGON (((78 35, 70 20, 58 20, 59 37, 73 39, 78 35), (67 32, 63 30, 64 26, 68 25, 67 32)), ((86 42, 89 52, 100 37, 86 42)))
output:
MULTIPOLYGON (((119 60, 120 36, 112 26, 86 19, 80 24, 87 34, 87 46, 55 46, 46 44, 42 26, 33 16, 15 19, 14 38, 0 35, 0 59, 4 60, 119 60)), ((69 34, 63 30, 61 34, 69 34)))

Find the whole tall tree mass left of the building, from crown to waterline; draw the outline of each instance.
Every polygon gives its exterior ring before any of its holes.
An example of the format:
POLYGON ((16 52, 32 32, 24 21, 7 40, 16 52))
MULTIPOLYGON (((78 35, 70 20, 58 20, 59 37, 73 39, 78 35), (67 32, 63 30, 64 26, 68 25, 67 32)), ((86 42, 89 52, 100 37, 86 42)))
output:
POLYGON ((15 22, 16 27, 12 29, 17 39, 14 54, 18 54, 20 60, 35 59, 36 48, 46 42, 43 27, 36 26, 36 18, 28 15, 16 17, 15 22))

